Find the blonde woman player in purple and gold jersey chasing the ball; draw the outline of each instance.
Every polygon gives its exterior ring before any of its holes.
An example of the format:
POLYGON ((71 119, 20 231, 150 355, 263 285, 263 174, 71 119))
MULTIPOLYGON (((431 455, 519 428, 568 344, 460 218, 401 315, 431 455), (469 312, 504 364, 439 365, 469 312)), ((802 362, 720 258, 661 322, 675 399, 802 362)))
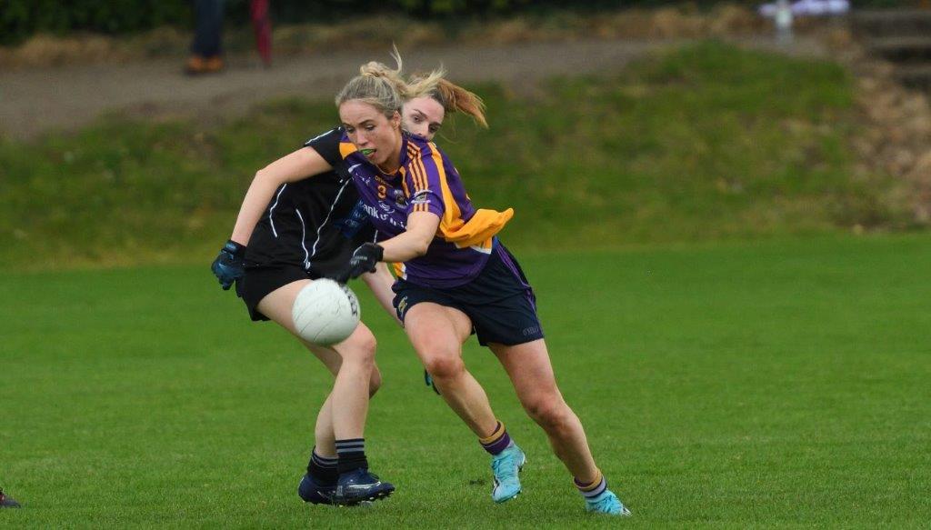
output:
POLYGON ((341 278, 381 262, 402 263, 394 306, 443 399, 492 455, 492 499, 520 492, 526 458, 492 412, 462 360, 476 333, 509 375, 521 404, 546 431, 587 510, 629 515, 607 488, 585 430, 556 385, 533 290, 497 234, 513 211, 476 209, 452 162, 434 143, 402 130, 402 103, 441 94, 441 72, 412 83, 370 62, 336 98, 345 130, 340 162, 352 174, 378 232, 354 252, 341 278))

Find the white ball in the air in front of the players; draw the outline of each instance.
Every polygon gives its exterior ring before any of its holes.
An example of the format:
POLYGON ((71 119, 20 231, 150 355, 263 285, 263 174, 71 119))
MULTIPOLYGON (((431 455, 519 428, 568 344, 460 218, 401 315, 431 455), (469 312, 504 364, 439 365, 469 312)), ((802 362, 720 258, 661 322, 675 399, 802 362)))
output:
POLYGON ((291 308, 294 327, 304 340, 320 346, 343 342, 358 326, 358 298, 332 279, 317 279, 298 292, 291 308))

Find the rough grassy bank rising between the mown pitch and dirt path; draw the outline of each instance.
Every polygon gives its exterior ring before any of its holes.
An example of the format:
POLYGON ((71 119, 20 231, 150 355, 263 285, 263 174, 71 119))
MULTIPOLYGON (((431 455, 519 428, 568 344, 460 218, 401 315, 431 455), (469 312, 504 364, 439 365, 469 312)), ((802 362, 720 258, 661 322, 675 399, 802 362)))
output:
MULTIPOLYGON (((452 73, 454 75, 454 73, 452 73)), ((895 227, 881 175, 851 176, 850 77, 829 61, 716 43, 620 73, 474 87, 490 130, 440 146, 514 247, 598 248, 895 227)), ((221 125, 121 116, 0 141, 0 266, 204 262, 255 170, 336 121, 270 102, 221 125)))

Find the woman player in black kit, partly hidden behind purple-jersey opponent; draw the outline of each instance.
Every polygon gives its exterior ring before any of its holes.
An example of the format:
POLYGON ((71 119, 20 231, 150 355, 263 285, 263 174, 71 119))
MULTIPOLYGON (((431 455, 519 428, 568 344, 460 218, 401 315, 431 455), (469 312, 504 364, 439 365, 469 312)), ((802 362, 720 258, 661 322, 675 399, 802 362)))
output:
MULTIPOLYGON (((447 113, 480 116, 480 101, 472 96, 443 80, 435 96, 411 102, 405 114, 406 127, 432 139, 447 113)), ((272 319, 295 336, 290 310, 297 293, 315 279, 333 276, 359 244, 374 236, 345 168, 333 171, 319 163, 319 153, 338 156, 331 151, 339 149, 341 138, 342 130, 333 129, 260 170, 243 202, 233 236, 212 266, 223 289, 236 283, 236 293, 253 320, 272 319), (321 170, 322 174, 317 174, 321 170), (311 174, 317 177, 304 179, 311 174)), ((363 279, 394 316, 394 278, 387 267, 382 265, 363 279)), ((381 384, 374 361, 374 336, 360 323, 355 333, 332 347, 298 340, 336 376, 331 394, 317 414, 316 446, 299 495, 315 504, 350 505, 390 495, 394 486, 368 472, 364 454, 368 400, 381 384), (340 484, 344 487, 338 488, 340 484)))

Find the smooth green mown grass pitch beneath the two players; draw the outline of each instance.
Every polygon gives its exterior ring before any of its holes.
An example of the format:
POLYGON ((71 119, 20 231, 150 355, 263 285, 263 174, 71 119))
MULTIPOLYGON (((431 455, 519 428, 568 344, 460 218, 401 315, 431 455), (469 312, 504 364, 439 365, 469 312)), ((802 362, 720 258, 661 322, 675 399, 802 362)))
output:
MULTIPOLYGON (((385 387, 369 510, 295 495, 330 380, 208 264, 0 277, 2 527, 919 527, 931 518, 931 236, 524 253, 563 393, 634 511, 587 516, 502 371, 529 456, 488 458, 363 297, 385 387)), ((364 288, 359 287, 358 291, 364 288)))

